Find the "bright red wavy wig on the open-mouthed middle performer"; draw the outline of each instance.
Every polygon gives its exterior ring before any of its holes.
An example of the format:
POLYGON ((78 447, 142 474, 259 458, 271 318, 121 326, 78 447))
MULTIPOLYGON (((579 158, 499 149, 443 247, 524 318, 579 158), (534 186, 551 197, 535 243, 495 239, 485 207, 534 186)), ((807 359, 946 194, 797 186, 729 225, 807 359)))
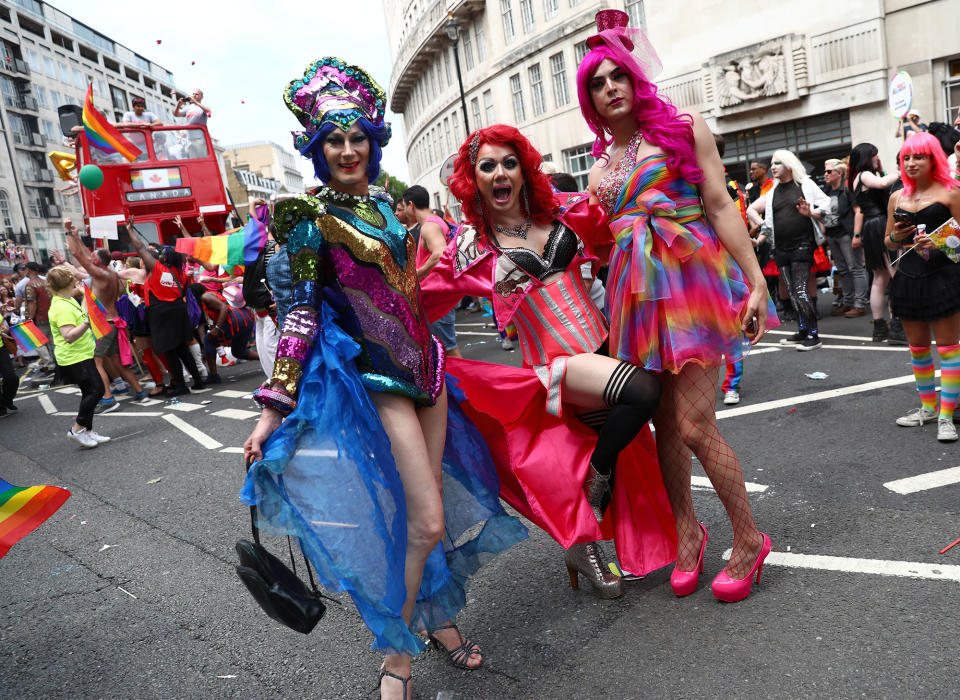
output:
POLYGON ((482 146, 492 143, 513 149, 520 161, 523 181, 527 187, 527 202, 530 205, 530 218, 538 224, 548 224, 557 216, 557 203, 554 201, 550 178, 540 172, 543 158, 527 140, 527 137, 506 124, 494 124, 485 129, 477 129, 460 145, 457 159, 453 164, 450 177, 450 191, 460 201, 463 217, 478 231, 489 234, 489 223, 483 213, 477 189, 476 163, 470 162, 470 144, 474 138, 482 146))

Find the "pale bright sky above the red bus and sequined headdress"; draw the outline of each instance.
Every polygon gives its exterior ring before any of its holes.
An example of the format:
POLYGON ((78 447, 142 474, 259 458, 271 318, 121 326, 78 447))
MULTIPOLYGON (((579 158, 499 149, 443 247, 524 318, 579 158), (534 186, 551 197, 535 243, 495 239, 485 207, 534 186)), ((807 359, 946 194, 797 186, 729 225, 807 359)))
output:
MULTIPOLYGON (((290 131, 299 125, 281 94, 320 56, 356 63, 389 89, 390 49, 377 0, 50 4, 171 71, 178 88, 187 92, 201 88, 213 112, 210 133, 223 144, 269 139, 293 152, 290 131)), ((401 120, 397 116, 390 120, 393 138, 384 150, 383 167, 406 181, 401 120)), ((301 161, 301 170, 312 173, 309 163, 301 161)))

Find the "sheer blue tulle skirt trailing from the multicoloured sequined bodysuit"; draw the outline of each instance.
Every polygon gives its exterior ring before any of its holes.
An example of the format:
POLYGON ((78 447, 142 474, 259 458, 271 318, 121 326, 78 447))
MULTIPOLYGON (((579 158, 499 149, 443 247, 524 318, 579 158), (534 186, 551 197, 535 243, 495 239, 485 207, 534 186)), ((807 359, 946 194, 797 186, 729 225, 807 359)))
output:
POLYGON ((350 594, 373 632, 373 648, 417 654, 413 630, 453 620, 470 576, 527 536, 500 506, 486 444, 448 386, 443 454, 445 536, 427 558, 413 621, 406 599, 407 512, 390 441, 360 381, 359 346, 324 305, 321 332, 300 382, 296 409, 264 445, 241 498, 271 534, 296 537, 329 591, 350 594))

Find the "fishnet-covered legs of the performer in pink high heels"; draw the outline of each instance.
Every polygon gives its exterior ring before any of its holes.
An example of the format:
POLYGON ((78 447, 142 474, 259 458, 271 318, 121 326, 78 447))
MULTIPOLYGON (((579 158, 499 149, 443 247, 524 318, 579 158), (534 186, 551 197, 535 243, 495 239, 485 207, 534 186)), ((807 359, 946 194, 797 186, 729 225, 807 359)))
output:
POLYGON ((763 540, 753 521, 740 462, 717 429, 717 379, 717 368, 692 363, 679 374, 663 375, 663 398, 654 418, 657 455, 677 523, 677 566, 693 570, 702 539, 690 493, 692 451, 733 525, 733 553, 724 570, 741 579, 753 566, 763 540))

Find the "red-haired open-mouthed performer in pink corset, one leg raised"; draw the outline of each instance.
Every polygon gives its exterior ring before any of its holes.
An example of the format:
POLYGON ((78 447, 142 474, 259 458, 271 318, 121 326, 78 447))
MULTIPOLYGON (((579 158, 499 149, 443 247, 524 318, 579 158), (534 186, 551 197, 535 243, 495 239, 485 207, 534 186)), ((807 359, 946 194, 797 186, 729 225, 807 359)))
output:
POLYGON ((574 588, 579 574, 614 598, 622 583, 597 540, 612 537, 633 574, 674 557, 646 427, 660 387, 602 354, 607 323, 581 268, 609 252, 606 217, 585 195, 554 194, 541 162, 510 126, 467 138, 450 190, 471 225, 422 281, 424 306, 438 318, 465 295, 488 297, 500 328, 516 325, 523 368, 449 358, 448 371, 490 446, 501 496, 567 549, 574 588))

